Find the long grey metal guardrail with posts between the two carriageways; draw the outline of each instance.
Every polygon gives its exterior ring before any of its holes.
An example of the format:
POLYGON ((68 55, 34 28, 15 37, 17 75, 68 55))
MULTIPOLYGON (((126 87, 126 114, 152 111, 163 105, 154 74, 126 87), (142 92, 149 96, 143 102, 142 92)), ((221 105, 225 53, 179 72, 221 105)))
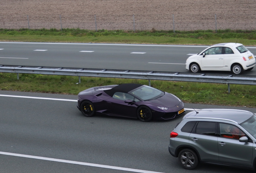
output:
POLYGON ((180 72, 153 72, 135 70, 109 70, 109 69, 90 69, 90 68, 62 68, 62 67, 43 67, 43 66, 11 66, 0 65, 0 72, 27 74, 50 74, 65 76, 107 77, 107 78, 133 78, 149 80, 171 80, 183 82, 207 82, 228 84, 256 85, 256 76, 245 75, 225 75, 225 74, 200 74, 200 73, 180 73, 180 72))

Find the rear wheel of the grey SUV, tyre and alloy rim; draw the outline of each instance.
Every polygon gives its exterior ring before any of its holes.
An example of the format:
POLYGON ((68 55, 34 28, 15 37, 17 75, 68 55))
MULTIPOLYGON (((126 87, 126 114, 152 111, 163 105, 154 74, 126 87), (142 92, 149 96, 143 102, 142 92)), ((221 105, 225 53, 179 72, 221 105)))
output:
POLYGON ((183 149, 178 156, 179 162, 185 169, 195 169, 199 163, 198 157, 191 149, 183 149))

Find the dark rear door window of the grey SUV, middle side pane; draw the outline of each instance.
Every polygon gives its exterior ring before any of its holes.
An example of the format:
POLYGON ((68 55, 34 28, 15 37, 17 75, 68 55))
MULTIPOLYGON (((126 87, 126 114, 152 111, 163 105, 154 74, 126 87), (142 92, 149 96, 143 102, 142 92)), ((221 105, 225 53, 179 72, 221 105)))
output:
POLYGON ((199 135, 218 136, 218 134, 216 133, 216 123, 199 121, 196 126, 195 133, 199 135))

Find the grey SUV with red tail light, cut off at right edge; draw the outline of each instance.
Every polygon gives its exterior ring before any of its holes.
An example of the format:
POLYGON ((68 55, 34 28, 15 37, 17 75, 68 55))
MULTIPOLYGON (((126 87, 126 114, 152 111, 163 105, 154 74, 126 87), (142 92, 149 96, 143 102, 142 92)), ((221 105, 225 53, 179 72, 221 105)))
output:
POLYGON ((192 111, 170 134, 169 153, 185 169, 199 161, 254 169, 256 115, 233 109, 192 111))

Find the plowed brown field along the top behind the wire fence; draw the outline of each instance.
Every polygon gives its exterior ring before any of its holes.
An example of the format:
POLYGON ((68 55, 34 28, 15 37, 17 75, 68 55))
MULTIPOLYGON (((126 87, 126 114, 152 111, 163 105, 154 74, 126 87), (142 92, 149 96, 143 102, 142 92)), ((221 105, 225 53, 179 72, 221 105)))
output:
POLYGON ((0 28, 173 30, 174 18, 175 30, 215 30, 216 14, 217 29, 256 30, 255 9, 256 0, 1 0, 0 28))

